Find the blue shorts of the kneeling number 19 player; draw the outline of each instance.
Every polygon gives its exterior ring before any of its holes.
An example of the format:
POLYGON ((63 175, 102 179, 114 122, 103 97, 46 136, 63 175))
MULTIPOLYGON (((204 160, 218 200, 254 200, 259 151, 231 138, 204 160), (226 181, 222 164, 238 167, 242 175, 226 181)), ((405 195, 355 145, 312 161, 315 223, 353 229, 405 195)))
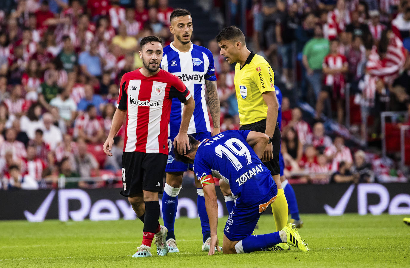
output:
POLYGON ((233 206, 228 220, 226 221, 223 233, 230 241, 239 241, 248 237, 255 230, 255 226, 262 213, 273 203, 278 194, 276 184, 273 184, 269 195, 249 208, 239 208, 233 206))

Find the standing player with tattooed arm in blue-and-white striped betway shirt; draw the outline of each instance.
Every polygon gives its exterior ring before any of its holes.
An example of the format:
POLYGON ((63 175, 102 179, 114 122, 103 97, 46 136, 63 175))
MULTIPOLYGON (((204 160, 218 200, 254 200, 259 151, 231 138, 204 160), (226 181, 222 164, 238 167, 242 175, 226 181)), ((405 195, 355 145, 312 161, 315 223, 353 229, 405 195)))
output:
MULTIPOLYGON (((174 35, 174 41, 164 48, 161 68, 177 75, 194 96, 195 110, 189 123, 188 134, 198 141, 211 137, 210 120, 205 102, 205 86, 208 92, 208 105, 212 116, 214 130, 212 136, 219 134, 220 103, 216 89, 214 58, 207 48, 194 45, 191 42, 192 18, 186 9, 175 9, 171 14, 169 30, 174 35)), ((162 216, 164 225, 168 228, 166 243, 169 253, 179 252, 175 243, 174 223, 178 207, 178 193, 181 190, 184 171, 193 169, 192 164, 185 164, 175 160, 173 141, 178 135, 182 108, 177 99, 171 105, 171 119, 169 121, 168 143, 169 155, 166 165, 166 184, 162 196, 162 216)), ((179 137, 180 138, 180 137, 179 137)), ((188 140, 188 136, 186 137, 188 140)), ((198 192, 198 214, 203 233, 203 251, 210 248, 210 225, 205 209, 205 198, 202 186, 195 180, 198 192)))

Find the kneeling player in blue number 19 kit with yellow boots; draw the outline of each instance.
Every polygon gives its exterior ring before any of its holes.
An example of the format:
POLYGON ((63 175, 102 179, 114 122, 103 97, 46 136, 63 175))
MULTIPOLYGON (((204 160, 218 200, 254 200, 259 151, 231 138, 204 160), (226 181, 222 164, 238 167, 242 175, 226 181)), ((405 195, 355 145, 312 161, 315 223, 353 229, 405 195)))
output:
MULTIPOLYGON (((205 205, 211 227, 211 246, 208 255, 215 252, 218 205, 213 177, 230 185, 235 205, 223 230, 223 253, 260 251, 278 243, 288 243, 308 251, 294 225, 289 223, 281 231, 251 235, 260 215, 275 202, 278 193, 270 171, 262 161, 269 137, 261 132, 228 130, 203 142, 189 135, 187 154, 175 152, 178 160, 194 164, 194 173, 205 194, 205 205)), ((218 248, 219 251, 219 248, 218 248)))

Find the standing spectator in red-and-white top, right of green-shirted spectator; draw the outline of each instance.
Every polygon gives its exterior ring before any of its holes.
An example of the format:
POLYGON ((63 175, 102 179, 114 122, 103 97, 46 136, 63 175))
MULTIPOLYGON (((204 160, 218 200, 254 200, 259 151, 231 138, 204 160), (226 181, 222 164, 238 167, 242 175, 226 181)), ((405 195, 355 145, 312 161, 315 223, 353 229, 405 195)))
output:
POLYGON ((344 73, 348 71, 348 63, 344 55, 337 52, 339 41, 330 42, 330 54, 323 59, 323 73, 325 76, 325 86, 320 91, 316 102, 316 114, 320 116, 323 111, 324 102, 332 97, 336 102, 337 121, 343 123, 343 101, 344 101, 344 73))

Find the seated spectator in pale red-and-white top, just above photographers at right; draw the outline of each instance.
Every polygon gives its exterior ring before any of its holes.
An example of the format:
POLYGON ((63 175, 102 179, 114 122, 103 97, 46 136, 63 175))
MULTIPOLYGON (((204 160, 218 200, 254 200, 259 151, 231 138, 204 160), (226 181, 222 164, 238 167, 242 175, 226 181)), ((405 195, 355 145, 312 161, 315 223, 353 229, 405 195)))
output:
POLYGON ((332 171, 334 172, 337 171, 339 163, 342 161, 346 163, 347 168, 350 168, 353 163, 352 153, 350 149, 344 145, 344 139, 341 136, 337 136, 333 144, 326 148, 325 155, 332 163, 332 171))

